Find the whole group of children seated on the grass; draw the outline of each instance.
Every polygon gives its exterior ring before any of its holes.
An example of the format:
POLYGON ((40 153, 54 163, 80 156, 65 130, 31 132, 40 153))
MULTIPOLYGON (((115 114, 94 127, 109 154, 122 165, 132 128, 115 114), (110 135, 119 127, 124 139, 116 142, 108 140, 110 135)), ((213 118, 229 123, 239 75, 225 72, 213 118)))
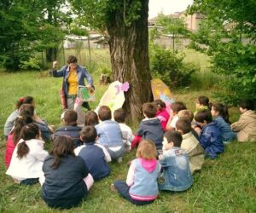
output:
POLYGON ((250 101, 241 102, 241 118, 231 125, 227 108, 210 106, 206 96, 198 98, 195 113, 181 101, 172 103, 171 112, 163 101, 144 103, 145 118, 134 135, 121 108, 113 112, 114 120, 107 106, 97 114, 86 112, 83 126, 78 125, 78 113, 67 110, 63 126, 54 131, 34 107, 32 97, 21 98, 4 125, 6 174, 20 184, 39 181, 42 198, 52 208, 78 205, 94 181, 109 176, 108 163, 121 163, 124 153, 137 145, 126 181, 114 181, 111 189, 142 205, 154 202, 159 189, 189 189, 193 173, 201 170, 205 158, 223 153, 224 143, 236 138, 256 141, 256 114, 250 101), (49 153, 44 141, 53 141, 49 153))

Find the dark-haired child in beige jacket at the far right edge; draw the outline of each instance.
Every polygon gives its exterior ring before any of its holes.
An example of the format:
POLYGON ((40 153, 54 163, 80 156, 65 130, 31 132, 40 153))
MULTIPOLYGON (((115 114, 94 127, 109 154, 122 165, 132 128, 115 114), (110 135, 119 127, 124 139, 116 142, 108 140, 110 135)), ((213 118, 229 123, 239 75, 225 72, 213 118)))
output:
POLYGON ((231 129, 237 132, 237 140, 256 141, 256 113, 253 111, 253 101, 241 101, 239 110, 239 120, 231 124, 231 129))

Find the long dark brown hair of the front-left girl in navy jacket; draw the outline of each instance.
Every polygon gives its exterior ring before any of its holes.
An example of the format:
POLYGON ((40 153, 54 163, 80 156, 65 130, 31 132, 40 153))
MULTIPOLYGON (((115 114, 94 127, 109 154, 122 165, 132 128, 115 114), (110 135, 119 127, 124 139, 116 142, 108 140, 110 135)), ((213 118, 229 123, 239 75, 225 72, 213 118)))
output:
POLYGON ((49 151, 50 155, 55 157, 54 163, 51 165, 53 169, 57 169, 61 163, 61 158, 67 155, 73 155, 73 140, 69 136, 57 136, 52 142, 52 147, 49 151))

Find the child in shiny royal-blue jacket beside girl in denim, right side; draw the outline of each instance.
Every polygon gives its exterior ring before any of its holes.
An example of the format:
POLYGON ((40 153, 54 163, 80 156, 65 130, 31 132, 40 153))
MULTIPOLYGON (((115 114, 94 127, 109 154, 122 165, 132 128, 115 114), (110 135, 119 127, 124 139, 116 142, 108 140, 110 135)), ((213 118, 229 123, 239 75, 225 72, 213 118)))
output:
POLYGON ((216 158, 218 153, 224 152, 224 143, 218 126, 212 122, 212 113, 207 109, 201 110, 196 113, 195 121, 202 128, 199 141, 205 149, 205 156, 216 158))

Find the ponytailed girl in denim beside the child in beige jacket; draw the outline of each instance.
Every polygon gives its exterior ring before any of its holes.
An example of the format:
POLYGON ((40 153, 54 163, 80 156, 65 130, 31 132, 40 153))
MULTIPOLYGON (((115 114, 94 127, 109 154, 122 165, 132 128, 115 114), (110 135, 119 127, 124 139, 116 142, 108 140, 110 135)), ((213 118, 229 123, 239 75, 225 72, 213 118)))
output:
POLYGON ((213 104, 212 105, 212 117, 214 122, 217 124, 220 130, 222 140, 224 143, 234 141, 236 139, 236 133, 231 130, 229 121, 229 111, 227 107, 223 104, 213 104))

